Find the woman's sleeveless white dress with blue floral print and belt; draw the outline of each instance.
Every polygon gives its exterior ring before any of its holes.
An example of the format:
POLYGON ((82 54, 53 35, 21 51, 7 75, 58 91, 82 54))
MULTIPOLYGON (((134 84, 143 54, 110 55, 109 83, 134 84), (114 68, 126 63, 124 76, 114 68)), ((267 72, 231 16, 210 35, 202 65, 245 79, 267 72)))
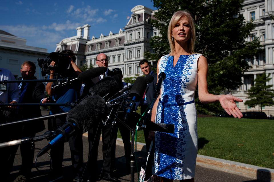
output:
POLYGON ((156 123, 174 124, 174 134, 155 132, 155 174, 168 179, 195 175, 198 135, 194 95, 198 83, 197 61, 201 54, 165 55, 158 65, 166 73, 161 86, 156 123))

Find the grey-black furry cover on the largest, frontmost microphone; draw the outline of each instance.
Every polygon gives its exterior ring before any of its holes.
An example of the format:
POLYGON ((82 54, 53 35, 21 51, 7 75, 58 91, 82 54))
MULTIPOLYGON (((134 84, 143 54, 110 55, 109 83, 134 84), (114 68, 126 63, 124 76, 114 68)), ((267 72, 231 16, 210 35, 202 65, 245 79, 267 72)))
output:
POLYGON ((106 117, 108 108, 101 96, 92 95, 82 100, 77 106, 67 113, 67 121, 74 118, 83 129, 82 133, 90 130, 93 126, 106 117))

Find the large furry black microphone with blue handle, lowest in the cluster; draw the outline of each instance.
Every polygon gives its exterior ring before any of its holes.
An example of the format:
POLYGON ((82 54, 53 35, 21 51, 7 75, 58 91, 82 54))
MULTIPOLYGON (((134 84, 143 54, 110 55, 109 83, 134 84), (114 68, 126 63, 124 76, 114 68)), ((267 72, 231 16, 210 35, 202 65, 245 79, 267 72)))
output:
POLYGON ((73 133, 85 133, 90 130, 106 117, 107 112, 108 108, 102 97, 92 95, 84 99, 68 111, 67 122, 56 130, 57 136, 37 154, 37 157, 45 154, 52 146, 66 142, 73 133))

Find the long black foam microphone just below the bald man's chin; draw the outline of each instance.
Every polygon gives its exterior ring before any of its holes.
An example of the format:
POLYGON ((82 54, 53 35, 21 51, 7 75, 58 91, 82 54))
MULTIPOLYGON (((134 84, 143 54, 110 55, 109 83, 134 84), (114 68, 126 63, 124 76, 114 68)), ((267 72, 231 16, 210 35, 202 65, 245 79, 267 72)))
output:
POLYGON ((69 78, 64 78, 61 81, 58 81, 57 85, 51 86, 51 89, 58 88, 63 85, 71 84, 72 82, 79 80, 79 82, 90 82, 92 78, 95 78, 96 76, 102 75, 105 73, 107 70, 106 67, 97 67, 97 68, 92 68, 90 70, 84 71, 78 75, 78 77, 73 78, 69 80, 69 78))

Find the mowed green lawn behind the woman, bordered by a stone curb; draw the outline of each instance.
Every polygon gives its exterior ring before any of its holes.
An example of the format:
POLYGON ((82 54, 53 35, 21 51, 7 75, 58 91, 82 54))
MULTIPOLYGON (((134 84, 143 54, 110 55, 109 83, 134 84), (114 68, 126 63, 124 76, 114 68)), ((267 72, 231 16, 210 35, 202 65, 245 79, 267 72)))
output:
POLYGON ((274 169, 273 130, 273 120, 198 117, 198 154, 274 169))

